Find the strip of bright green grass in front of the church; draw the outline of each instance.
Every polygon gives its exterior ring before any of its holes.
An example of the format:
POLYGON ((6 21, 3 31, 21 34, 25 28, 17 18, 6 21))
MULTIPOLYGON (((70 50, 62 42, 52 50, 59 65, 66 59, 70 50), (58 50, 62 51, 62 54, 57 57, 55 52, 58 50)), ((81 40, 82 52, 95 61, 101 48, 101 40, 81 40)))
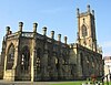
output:
MULTIPOLYGON (((63 83, 54 83, 54 84, 50 84, 50 85, 81 85, 83 82, 63 82, 63 83)), ((85 82, 84 82, 85 83, 85 82)), ((104 83, 104 85, 107 85, 107 83, 104 83)), ((111 85, 111 82, 109 83, 109 85, 111 85)))

